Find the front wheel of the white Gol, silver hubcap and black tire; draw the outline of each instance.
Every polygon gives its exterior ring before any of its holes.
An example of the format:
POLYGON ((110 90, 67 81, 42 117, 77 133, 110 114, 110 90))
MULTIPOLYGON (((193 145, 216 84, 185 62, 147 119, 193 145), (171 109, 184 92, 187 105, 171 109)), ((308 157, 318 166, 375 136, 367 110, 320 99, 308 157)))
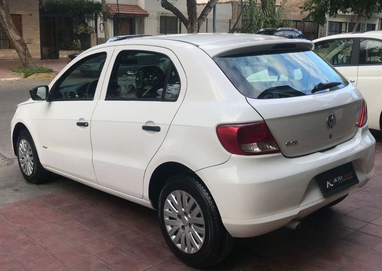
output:
POLYGON ((51 174, 40 163, 32 136, 22 130, 17 139, 17 160, 24 179, 33 184, 48 182, 51 174))

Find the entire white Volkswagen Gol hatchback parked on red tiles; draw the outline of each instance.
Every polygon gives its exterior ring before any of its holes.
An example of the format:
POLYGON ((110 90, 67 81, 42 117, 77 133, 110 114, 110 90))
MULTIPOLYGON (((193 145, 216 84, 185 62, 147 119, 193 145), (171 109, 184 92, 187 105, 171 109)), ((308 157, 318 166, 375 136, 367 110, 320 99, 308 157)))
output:
POLYGON ((233 237, 296 224, 373 175, 366 103, 312 48, 249 34, 93 47, 18 105, 21 173, 157 209, 176 256, 214 265, 233 237))

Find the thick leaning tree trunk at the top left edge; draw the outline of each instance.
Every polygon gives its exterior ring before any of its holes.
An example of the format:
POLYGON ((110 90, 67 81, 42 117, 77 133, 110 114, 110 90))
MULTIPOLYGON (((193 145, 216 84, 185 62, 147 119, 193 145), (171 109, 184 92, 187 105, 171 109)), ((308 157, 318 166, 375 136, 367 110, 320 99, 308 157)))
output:
POLYGON ((21 36, 17 31, 15 24, 8 8, 8 0, 0 0, 0 24, 2 25, 4 31, 8 35, 8 38, 13 43, 15 50, 23 63, 23 66, 29 69, 35 69, 36 64, 31 54, 29 54, 28 47, 21 40, 21 36))

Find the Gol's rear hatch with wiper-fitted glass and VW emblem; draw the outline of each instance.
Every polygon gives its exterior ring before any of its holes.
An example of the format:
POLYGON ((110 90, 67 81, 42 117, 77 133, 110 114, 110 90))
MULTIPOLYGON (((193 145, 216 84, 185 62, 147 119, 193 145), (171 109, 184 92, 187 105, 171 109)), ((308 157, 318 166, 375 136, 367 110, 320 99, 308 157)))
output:
POLYGON ((362 95, 313 51, 214 60, 264 118, 285 156, 322 151, 355 135, 362 95))

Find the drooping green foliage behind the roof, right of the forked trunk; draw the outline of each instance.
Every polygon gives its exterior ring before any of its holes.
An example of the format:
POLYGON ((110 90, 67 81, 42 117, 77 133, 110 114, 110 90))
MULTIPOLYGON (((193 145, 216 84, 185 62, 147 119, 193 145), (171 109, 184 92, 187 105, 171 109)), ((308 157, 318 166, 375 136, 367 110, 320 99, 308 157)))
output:
POLYGON ((243 18, 241 20, 241 28, 237 29, 241 33, 254 33, 262 28, 280 28, 290 27, 292 21, 290 19, 280 18, 285 3, 283 0, 278 8, 275 6, 275 0, 248 0, 242 2, 244 6, 243 18))

